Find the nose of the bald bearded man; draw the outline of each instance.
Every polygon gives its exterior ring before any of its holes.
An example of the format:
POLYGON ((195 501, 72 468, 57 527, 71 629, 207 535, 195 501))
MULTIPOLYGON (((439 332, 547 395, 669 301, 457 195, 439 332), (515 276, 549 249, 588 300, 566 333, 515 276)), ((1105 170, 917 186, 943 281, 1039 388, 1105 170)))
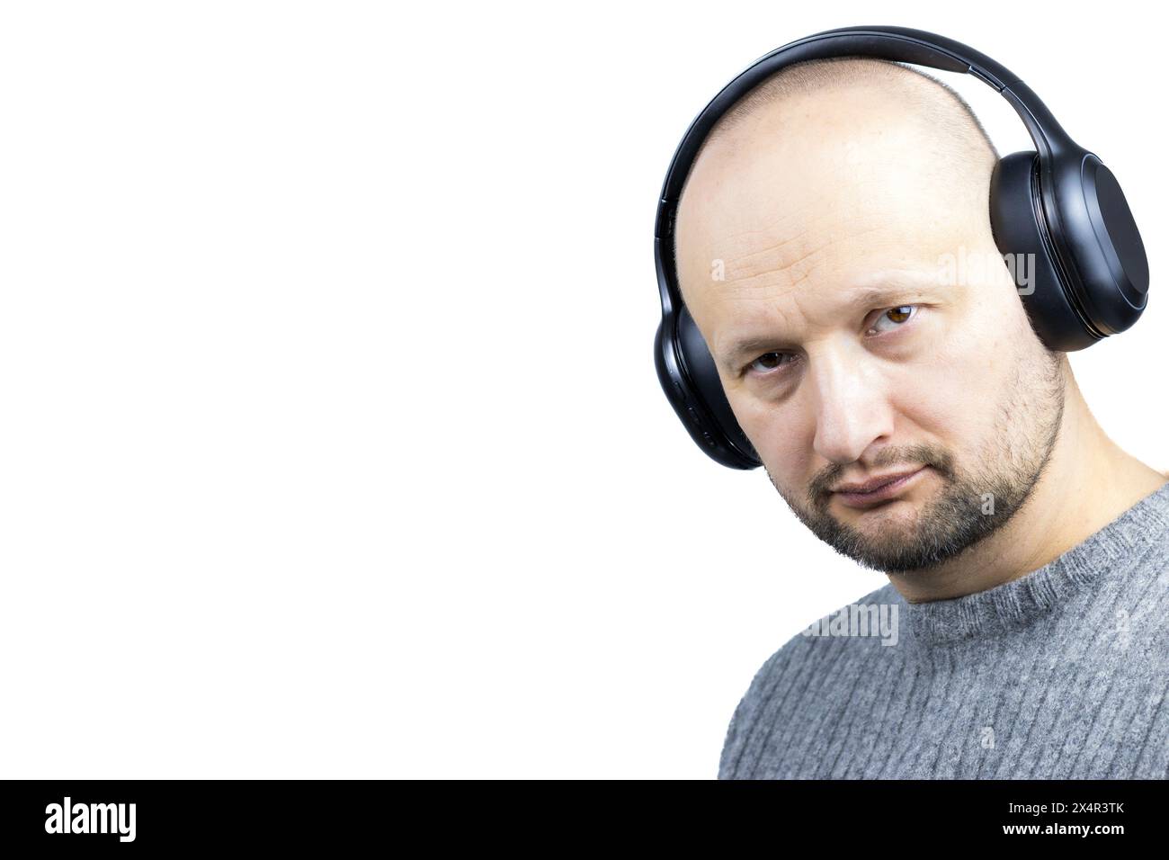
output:
POLYGON ((873 442, 892 436, 890 380, 871 356, 826 345, 810 357, 808 381, 816 414, 812 447, 825 460, 857 462, 873 442))

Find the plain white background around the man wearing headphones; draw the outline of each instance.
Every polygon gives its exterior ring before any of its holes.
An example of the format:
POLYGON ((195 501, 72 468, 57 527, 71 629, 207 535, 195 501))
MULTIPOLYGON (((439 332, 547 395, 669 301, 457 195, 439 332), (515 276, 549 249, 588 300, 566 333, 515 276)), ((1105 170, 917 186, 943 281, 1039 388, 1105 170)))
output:
POLYGON ((0 776, 712 778, 763 660, 886 582, 652 363, 675 147, 823 29, 982 50, 1120 178, 1153 298, 1072 364, 1169 468, 1147 12, 812 7, 6 5, 0 776))

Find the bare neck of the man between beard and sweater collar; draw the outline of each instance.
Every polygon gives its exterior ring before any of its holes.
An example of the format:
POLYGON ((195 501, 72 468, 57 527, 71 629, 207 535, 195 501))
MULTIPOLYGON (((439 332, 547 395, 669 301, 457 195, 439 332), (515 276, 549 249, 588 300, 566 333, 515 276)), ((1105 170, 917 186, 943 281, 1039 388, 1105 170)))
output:
POLYGON ((1064 378, 1063 424, 1031 495, 1005 525, 966 552, 938 567, 891 576, 908 603, 973 594, 1038 570, 1169 481, 1113 442, 1074 377, 1064 378))

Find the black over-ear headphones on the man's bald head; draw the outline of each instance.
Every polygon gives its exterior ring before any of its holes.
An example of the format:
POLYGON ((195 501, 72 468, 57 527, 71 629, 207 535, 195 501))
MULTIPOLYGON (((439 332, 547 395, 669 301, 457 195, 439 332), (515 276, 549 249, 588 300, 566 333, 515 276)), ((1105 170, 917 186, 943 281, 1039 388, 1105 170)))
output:
POLYGON ((832 56, 871 56, 970 73, 1010 102, 1035 151, 1014 152, 990 179, 990 223, 1004 255, 1033 254, 1033 290, 1019 295, 1036 333, 1071 352, 1125 331, 1148 301, 1144 245, 1116 178, 1073 142, 1031 88, 997 62, 952 39, 906 27, 842 27, 784 44, 760 57, 691 123, 662 186, 653 257, 662 323, 653 338, 658 379, 690 435, 715 461, 761 466, 727 403, 714 360, 678 287, 673 227, 678 199, 703 140, 739 98, 784 66, 832 56))

